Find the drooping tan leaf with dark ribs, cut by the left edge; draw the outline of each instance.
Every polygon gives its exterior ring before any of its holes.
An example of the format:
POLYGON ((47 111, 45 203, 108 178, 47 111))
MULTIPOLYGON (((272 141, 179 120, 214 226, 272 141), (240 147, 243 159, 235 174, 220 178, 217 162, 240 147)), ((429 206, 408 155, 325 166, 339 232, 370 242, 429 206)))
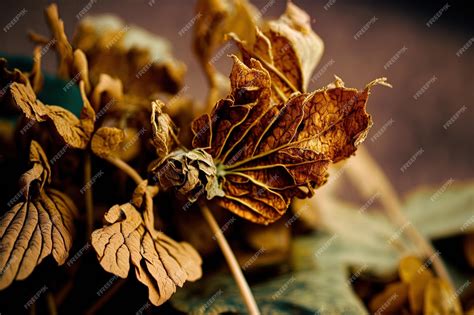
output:
POLYGON ((51 169, 41 146, 31 142, 32 169, 22 176, 22 201, 0 218, 0 290, 13 280, 27 278, 48 255, 62 265, 72 246, 73 217, 77 213, 72 200, 51 188, 51 169), (38 189, 32 189, 38 180, 38 189), (34 193, 31 191, 34 190, 34 193))

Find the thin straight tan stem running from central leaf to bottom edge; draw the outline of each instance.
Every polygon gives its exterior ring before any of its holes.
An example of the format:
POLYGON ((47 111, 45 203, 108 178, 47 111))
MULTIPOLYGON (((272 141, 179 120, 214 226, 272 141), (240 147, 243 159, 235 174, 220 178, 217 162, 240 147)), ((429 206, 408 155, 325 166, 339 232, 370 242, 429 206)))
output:
POLYGON ((249 313, 260 314, 257 303, 255 302, 255 298, 252 294, 252 291, 250 291, 250 287, 247 283, 247 280, 245 280, 245 277, 242 273, 242 269, 240 269, 239 263, 237 262, 237 259, 235 258, 235 255, 232 252, 232 249, 230 248, 229 243, 227 243, 227 240, 225 239, 224 234, 222 233, 221 229, 217 225, 216 219, 214 218, 211 211, 205 204, 201 205, 201 211, 207 223, 211 227, 211 230, 217 239, 217 243, 219 244, 219 247, 221 248, 222 253, 224 254, 224 257, 227 260, 227 264, 229 265, 230 271, 232 272, 232 275, 234 276, 234 279, 237 282, 237 286, 239 287, 240 294, 242 295, 242 298, 244 299, 245 306, 247 307, 249 313))

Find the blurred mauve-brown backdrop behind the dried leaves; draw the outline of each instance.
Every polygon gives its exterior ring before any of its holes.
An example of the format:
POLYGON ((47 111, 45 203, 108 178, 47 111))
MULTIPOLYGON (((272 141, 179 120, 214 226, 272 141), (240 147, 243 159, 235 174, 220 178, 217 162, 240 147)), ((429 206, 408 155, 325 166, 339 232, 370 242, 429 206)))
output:
MULTIPOLYGON (((30 55, 33 45, 26 32, 34 29, 48 34, 43 9, 49 2, 2 0, 0 51, 30 55), (5 30, 24 9, 18 22, 5 30)), ((286 3, 251 2, 257 8, 267 8, 266 18, 278 17, 286 3)), ((474 10, 468 1, 294 2, 310 14, 313 29, 325 43, 310 90, 332 82, 334 74, 350 87, 363 88, 382 76, 393 85, 393 89, 377 87, 373 91, 368 111, 374 126, 366 144, 400 193, 423 184, 441 186, 449 179, 456 183, 474 177, 474 10), (412 157, 416 160, 402 172, 412 157)), ((70 38, 78 22, 76 15, 89 3, 87 14, 113 13, 167 38, 176 58, 188 66, 187 94, 204 100, 207 86, 191 48, 193 32, 180 34, 196 15, 195 1, 57 3, 70 38)), ((230 71, 228 59, 218 61, 224 73, 230 71)), ((48 53, 46 70, 54 69, 54 62, 54 54, 48 53)))

